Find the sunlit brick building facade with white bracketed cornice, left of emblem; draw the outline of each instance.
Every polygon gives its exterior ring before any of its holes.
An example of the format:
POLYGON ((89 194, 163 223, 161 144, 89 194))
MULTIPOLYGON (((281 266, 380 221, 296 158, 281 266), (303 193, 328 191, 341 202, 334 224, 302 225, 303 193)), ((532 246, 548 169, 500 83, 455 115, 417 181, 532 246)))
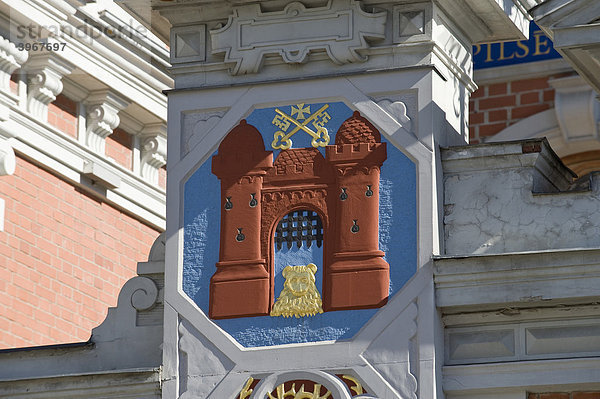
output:
POLYGON ((168 48, 84 3, 0 5, 0 348, 86 341, 165 228, 168 48))

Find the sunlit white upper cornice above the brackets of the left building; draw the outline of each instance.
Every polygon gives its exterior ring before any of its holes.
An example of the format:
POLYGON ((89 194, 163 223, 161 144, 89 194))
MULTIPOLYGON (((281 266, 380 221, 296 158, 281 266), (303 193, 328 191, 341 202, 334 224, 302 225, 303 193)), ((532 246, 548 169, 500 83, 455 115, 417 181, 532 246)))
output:
POLYGON ((111 24, 102 19, 98 10, 91 12, 92 8, 96 7, 96 2, 87 2, 85 5, 76 1, 70 1, 69 5, 66 3, 31 0, 15 10, 14 15, 11 14, 11 21, 17 21, 23 26, 33 24, 50 27, 51 32, 46 40, 48 43, 60 44, 61 50, 56 54, 69 60, 77 68, 78 73, 70 76, 75 83, 87 87, 89 76, 92 76, 117 93, 135 97, 136 103, 152 114, 153 119, 166 120, 167 101, 162 90, 169 89, 173 82, 164 68, 156 68, 150 63, 153 56, 163 59, 164 62, 166 46, 160 49, 159 41, 150 39, 148 43, 138 46, 137 40, 143 42, 146 39, 143 35, 133 33, 131 37, 123 33, 127 36, 124 40, 128 40, 127 43, 123 43, 122 40, 116 40, 93 28, 92 24, 95 26, 96 22, 111 31, 118 31, 116 26, 119 23, 127 25, 124 29, 130 28, 129 21, 117 20, 124 11, 116 3, 109 2, 108 5, 111 24), (84 13, 84 9, 89 12, 84 13), (90 24, 86 20, 93 22, 90 24), (94 36, 84 35, 83 32, 94 32, 94 36), (62 43, 65 44, 64 49, 62 43), (140 54, 138 50, 142 47, 151 51, 140 54))

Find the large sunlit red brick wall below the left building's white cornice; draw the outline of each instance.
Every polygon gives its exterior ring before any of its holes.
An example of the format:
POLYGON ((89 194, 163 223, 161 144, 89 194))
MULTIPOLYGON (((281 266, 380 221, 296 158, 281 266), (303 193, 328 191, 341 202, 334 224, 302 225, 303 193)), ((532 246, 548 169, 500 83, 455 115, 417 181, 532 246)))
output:
POLYGON ((0 348, 86 341, 159 233, 20 157, 0 198, 0 348))

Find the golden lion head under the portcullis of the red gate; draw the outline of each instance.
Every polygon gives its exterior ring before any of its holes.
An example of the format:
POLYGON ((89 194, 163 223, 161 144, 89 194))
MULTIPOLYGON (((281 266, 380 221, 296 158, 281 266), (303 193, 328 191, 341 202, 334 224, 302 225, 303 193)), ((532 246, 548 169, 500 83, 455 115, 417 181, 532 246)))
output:
POLYGON ((317 266, 286 266, 282 275, 285 278, 283 290, 273 305, 271 316, 298 318, 323 313, 321 295, 315 286, 317 266))

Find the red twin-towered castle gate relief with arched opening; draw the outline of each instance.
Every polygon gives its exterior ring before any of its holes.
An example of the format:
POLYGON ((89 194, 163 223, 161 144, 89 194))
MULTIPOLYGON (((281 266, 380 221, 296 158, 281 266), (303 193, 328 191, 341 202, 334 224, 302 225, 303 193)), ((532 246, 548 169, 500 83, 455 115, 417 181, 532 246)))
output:
POLYGON ((221 235, 210 281, 214 319, 269 315, 274 300, 274 236, 294 211, 323 226, 323 310, 376 308, 387 302, 389 265, 379 250, 379 176, 387 158, 377 129, 358 112, 335 145, 282 150, 273 162, 263 138, 242 120, 219 146, 212 172, 221 181, 221 235))

